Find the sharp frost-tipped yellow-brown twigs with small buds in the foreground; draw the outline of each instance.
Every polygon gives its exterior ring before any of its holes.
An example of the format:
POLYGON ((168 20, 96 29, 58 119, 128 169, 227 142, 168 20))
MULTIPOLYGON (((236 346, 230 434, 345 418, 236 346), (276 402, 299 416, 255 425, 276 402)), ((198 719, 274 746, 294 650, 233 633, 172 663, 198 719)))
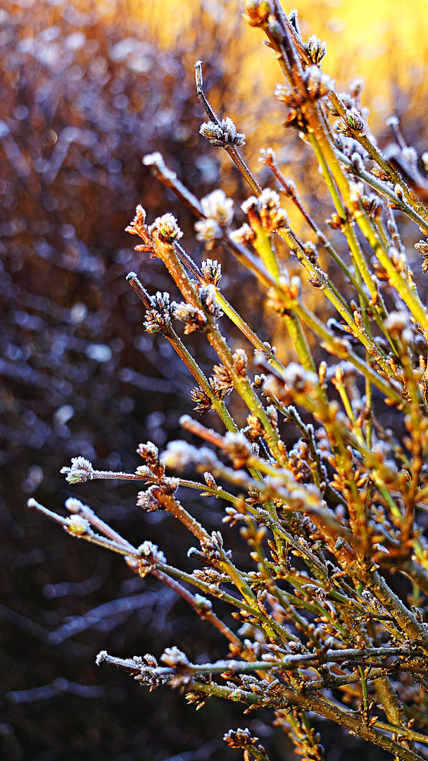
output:
MULTIPOLYGON (((341 724, 396 758, 426 758, 428 543, 417 517, 428 505, 428 312, 396 218, 407 215, 423 234, 417 250, 426 271, 428 211, 376 147, 360 87, 338 94, 322 72, 325 43, 315 35, 304 42, 296 13, 285 14, 277 0, 245 5, 246 20, 265 32, 281 66, 284 83, 276 95, 284 103, 285 126, 296 129, 315 153, 333 204, 327 224, 343 234, 348 260, 304 208, 267 148, 260 161, 299 209, 313 240, 293 232, 281 196, 259 186, 239 151, 245 135, 208 103, 198 62, 197 92, 209 119, 201 133, 230 154, 249 184, 253 195, 242 207, 246 221, 233 228, 232 200, 218 189, 198 200, 160 154, 146 156, 144 164, 192 209, 197 238, 206 249, 223 245, 268 290, 296 362, 285 367, 274 347, 227 302, 217 260, 195 264, 179 243, 182 231, 173 215, 147 226, 138 206, 127 230, 140 237, 137 250, 163 262, 182 295, 180 303, 168 293, 150 295, 130 272, 128 282, 147 310, 144 326, 170 342, 195 378, 195 410, 217 413, 226 433, 185 416, 182 427, 195 444, 173 441, 161 455, 154 444, 140 444, 144 464, 135 473, 94 470, 84 457, 63 472, 71 483, 143 482, 147 488, 138 492, 138 505, 182 521, 197 542, 189 550, 197 568, 186 573, 169 565, 151 542, 132 545, 76 498, 66 502, 69 517, 33 499, 29 505, 71 535, 122 554, 136 574, 169 585, 229 641, 228 657, 214 663, 193 664, 176 647, 166 649, 162 665, 153 655, 122 660, 105 652, 99 663, 125 670, 150 689, 178 686, 197 708, 211 696, 241 702, 245 713, 271 708, 275 723, 307 759, 323 758, 313 715, 341 724), (300 278, 287 276, 277 255, 280 238, 309 285, 337 310, 327 323, 307 307, 300 278), (320 265, 321 250, 353 288, 350 303, 320 265), (219 326, 222 315, 252 344, 257 374, 249 370, 247 352, 233 352, 228 345, 219 326), (185 335, 201 331, 208 339, 219 360, 211 377, 186 349, 174 321, 184 323, 185 335), (318 366, 307 330, 326 352, 318 366), (243 428, 227 409, 231 392, 248 408, 243 428), (382 425, 385 409, 391 410, 395 431, 382 425), (300 437, 291 449, 281 432, 284 422, 300 437), (198 445, 199 440, 210 446, 198 445), (201 479, 166 474, 187 466, 201 479), (182 501, 186 489, 227 504, 224 522, 240 527, 252 570, 239 568, 221 533, 208 533, 189 514, 182 501), (404 592, 396 581, 403 576, 409 581, 404 592), (217 616, 208 598, 229 603, 239 627, 217 616)), ((414 148, 402 145, 401 159, 423 186, 414 148)), ((248 730, 230 731, 225 739, 242 748, 246 759, 268 759, 248 730)))

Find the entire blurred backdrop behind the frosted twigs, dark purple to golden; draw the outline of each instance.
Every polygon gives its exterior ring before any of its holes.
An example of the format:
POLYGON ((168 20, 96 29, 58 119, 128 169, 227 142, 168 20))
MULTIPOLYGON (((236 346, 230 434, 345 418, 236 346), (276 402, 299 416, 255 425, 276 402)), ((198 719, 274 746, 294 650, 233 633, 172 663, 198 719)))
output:
MULTIPOLYGON (((391 139, 385 118, 395 113, 409 145, 426 151, 426 2, 302 0, 299 9, 304 34, 328 40, 324 68, 338 89, 357 75, 366 80, 380 144, 391 139)), ((62 504, 71 492, 59 470, 77 454, 98 468, 133 470, 138 442, 162 447, 191 409, 192 382, 170 346, 144 333, 125 275, 137 270, 151 292, 170 282, 157 260, 149 266, 132 250, 124 228, 139 202, 151 218, 171 210, 189 252, 203 254, 189 212, 141 164, 154 150, 197 196, 218 185, 237 201, 248 195, 227 155, 198 134, 196 59, 214 107, 246 132, 261 181, 269 178, 258 149, 273 145, 320 223, 327 199, 309 151, 281 128, 277 65, 236 0, 3 0, 0 49, 2 757, 229 761, 238 754, 220 738, 243 724, 239 711, 208 702, 195 714, 177 693, 145 693, 94 665, 101 648, 159 655, 177 642, 192 658, 219 658, 216 632, 168 590, 72 543, 25 504, 30 495, 62 504)), ((226 263, 222 285, 262 339, 279 343, 249 275, 226 263)), ((235 348, 239 337, 225 321, 224 329, 235 348)), ((280 349, 287 357, 290 349, 280 349)), ((214 356, 198 336, 192 350, 209 373, 214 356)), ((141 514, 129 485, 72 493, 132 542, 152 540, 182 563, 189 537, 170 517, 141 514)), ((185 498, 198 515, 197 499, 185 498)), ((219 508, 204 502, 212 529, 219 508)), ((233 531, 229 540, 236 544, 233 531)), ((249 726, 274 758, 291 757, 262 714, 249 726)), ((360 757, 361 741, 347 737, 344 749, 338 729, 323 739, 328 759, 360 757)))

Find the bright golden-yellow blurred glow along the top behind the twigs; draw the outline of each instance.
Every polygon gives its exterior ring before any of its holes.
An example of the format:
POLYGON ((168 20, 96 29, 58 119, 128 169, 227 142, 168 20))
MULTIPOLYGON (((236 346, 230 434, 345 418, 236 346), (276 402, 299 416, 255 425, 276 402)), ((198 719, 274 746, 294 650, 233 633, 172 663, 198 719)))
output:
MULTIPOLYGON (((239 56, 239 76, 231 88, 236 97, 243 97, 249 84, 268 94, 281 78, 271 52, 262 44, 263 34, 240 18, 243 4, 239 0, 100 4, 107 16, 118 7, 128 12, 135 37, 144 37, 163 49, 187 47, 194 57, 204 59, 204 53, 224 47, 232 59, 239 56), (195 41, 203 27, 207 34, 204 45, 198 47, 195 41), (210 39, 210 27, 215 38, 210 39)), ((322 68, 336 79, 339 90, 353 78, 363 78, 363 100, 373 109, 375 123, 393 110, 395 88, 410 86, 412 78, 428 79, 426 0, 300 0, 291 7, 298 8, 304 39, 316 33, 328 43, 322 68)), ((290 6, 284 4, 284 9, 288 12, 290 6)))

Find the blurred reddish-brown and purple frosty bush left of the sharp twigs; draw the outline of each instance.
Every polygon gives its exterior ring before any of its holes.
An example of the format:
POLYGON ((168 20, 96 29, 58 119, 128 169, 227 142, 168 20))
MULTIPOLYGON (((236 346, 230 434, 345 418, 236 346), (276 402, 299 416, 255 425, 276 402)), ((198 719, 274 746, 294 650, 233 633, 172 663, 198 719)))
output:
MULTIPOLYGON (((201 33, 214 38, 207 21, 201 33)), ((144 275, 124 232, 137 202, 157 213, 172 202, 141 164, 147 151, 163 151, 198 195, 217 180, 214 153, 202 157, 201 109, 183 60, 194 56, 192 35, 174 53, 160 51, 125 4, 104 16, 94 5, 43 0, 5 0, 0 10, 0 745, 8 759, 146 761, 204 741, 196 719, 180 728, 179 708, 168 721, 175 696, 161 705, 125 680, 105 688, 110 680, 92 664, 102 632, 129 652, 142 630, 165 645, 175 626, 190 637, 185 607, 163 591, 146 594, 109 559, 70 551, 24 509, 35 489, 52 506, 66 495, 59 468, 75 451, 121 467, 138 441, 163 444, 161 426, 173 431, 183 412, 179 386, 192 387, 172 352, 142 330, 125 273, 138 269, 151 290, 165 287, 163 275, 156 267, 144 275), (80 630, 61 629, 76 619, 80 630)), ((217 58, 210 77, 220 94, 222 75, 217 58)), ((173 546, 170 527, 141 527, 129 496, 109 489, 104 517, 141 540, 161 531, 173 546)))

